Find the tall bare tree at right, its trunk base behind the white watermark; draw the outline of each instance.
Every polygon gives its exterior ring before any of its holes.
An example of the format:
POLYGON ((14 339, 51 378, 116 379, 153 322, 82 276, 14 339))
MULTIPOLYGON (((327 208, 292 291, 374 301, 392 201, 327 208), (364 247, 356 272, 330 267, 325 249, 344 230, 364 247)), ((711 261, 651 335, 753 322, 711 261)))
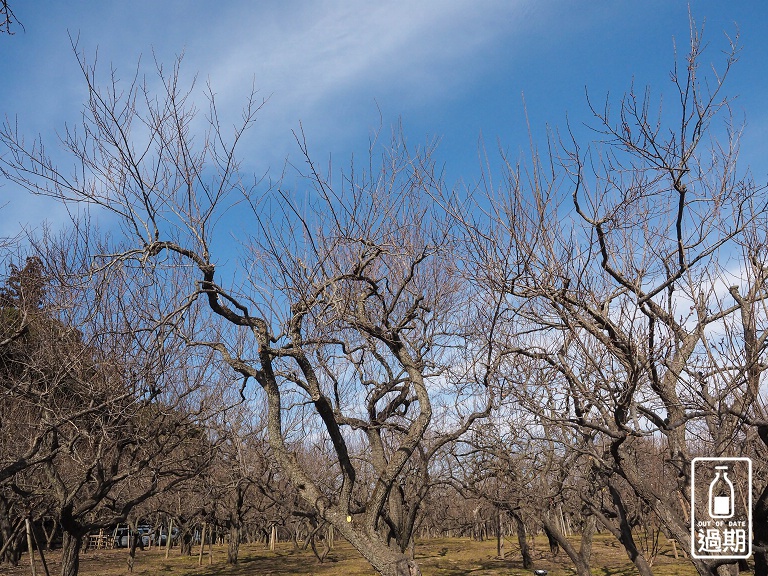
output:
MULTIPOLYGON (((476 238, 479 280, 514 311, 509 353, 546 382, 521 398, 542 424, 578 431, 571 448, 631 486, 687 548, 691 458, 703 447, 738 455, 745 424, 762 423, 765 338, 753 315, 767 294, 750 264, 765 234, 762 189, 737 169, 732 119, 713 124, 728 112, 737 48, 706 78, 702 48, 692 26, 672 73, 674 114, 634 89, 615 117, 590 104, 598 142, 534 149, 527 167, 508 161, 503 191, 488 181, 485 227, 456 211, 476 238), (664 487, 635 458, 657 435, 664 487)), ((718 564, 692 561, 701 574, 718 564)))

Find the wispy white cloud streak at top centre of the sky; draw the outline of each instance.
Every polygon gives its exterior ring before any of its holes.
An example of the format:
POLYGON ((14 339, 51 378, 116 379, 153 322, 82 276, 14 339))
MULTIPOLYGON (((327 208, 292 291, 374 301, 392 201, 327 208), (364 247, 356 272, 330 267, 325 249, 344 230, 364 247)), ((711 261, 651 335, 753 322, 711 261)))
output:
MULTIPOLYGON (((265 129, 290 134, 302 121, 321 138, 377 122, 376 102, 399 114, 440 106, 486 68, 496 41, 525 26, 528 3, 288 3, 211 31, 211 52, 189 54, 225 104, 251 79, 270 97, 265 129)), ((228 22, 228 21, 227 21, 228 22)), ((391 119, 390 119, 391 120, 391 119)))

